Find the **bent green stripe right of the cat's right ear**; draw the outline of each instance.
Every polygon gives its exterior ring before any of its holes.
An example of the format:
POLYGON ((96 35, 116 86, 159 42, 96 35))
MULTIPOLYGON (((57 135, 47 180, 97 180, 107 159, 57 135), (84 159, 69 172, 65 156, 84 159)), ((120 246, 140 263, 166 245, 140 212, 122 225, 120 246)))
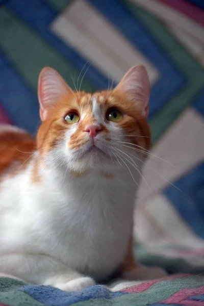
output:
MULTIPOLYGON (((189 106, 204 89, 204 69, 188 50, 167 30, 164 24, 138 5, 124 1, 134 16, 142 21, 176 66, 185 74, 187 85, 150 120, 152 142, 155 143, 173 120, 189 106)), ((170 86, 170 85, 169 85, 170 86)))

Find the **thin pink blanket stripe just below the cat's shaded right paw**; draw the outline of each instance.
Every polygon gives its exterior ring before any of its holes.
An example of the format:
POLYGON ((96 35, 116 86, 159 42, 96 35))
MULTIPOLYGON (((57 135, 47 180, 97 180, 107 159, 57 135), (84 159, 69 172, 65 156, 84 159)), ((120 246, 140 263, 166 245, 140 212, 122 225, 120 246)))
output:
POLYGON ((142 292, 142 291, 145 291, 145 290, 149 289, 152 285, 155 285, 159 282, 168 281, 170 279, 176 279, 176 278, 181 278, 181 277, 185 277, 185 276, 187 276, 187 274, 173 274, 171 276, 166 276, 166 277, 161 277, 159 279, 154 279, 154 281, 149 281, 149 282, 142 283, 140 285, 125 288, 125 289, 122 289, 120 291, 121 292, 126 292, 126 293, 139 293, 139 292, 142 292))

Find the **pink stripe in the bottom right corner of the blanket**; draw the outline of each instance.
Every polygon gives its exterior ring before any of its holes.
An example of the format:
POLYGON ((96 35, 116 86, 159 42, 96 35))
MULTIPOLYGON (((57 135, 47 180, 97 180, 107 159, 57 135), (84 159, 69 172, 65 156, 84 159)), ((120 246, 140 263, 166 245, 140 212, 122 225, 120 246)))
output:
MULTIPOLYGON (((179 292, 176 292, 171 297, 167 298, 166 300, 162 301, 161 303, 166 304, 178 304, 179 302, 183 302, 188 297, 197 295, 204 292, 204 286, 192 289, 183 289, 179 292)), ((194 305, 194 303, 192 303, 194 305)))

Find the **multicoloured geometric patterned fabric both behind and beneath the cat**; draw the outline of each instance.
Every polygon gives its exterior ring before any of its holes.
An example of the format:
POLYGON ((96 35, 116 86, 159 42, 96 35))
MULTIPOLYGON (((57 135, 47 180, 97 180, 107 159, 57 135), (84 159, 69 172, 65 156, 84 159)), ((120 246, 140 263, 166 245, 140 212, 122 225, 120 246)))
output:
MULTIPOLYGON (((170 273, 204 270, 203 20, 202 0, 0 0, 0 123, 36 133, 44 66, 91 92, 115 86, 135 64, 147 67, 153 147, 137 200, 136 253, 170 273)), ((103 286, 79 295, 44 287, 19 291, 23 284, 4 279, 9 291, 1 299, 9 305, 21 299, 95 304, 98 298, 100 305, 204 304, 204 290, 195 289, 204 286, 201 276, 176 277, 118 296, 103 286)))

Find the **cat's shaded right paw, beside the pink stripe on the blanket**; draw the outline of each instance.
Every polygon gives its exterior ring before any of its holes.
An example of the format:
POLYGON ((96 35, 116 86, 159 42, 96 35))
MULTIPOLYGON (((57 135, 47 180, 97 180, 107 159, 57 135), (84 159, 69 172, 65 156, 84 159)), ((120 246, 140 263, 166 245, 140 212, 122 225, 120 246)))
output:
POLYGON ((159 267, 139 266, 137 269, 125 272, 122 276, 131 281, 144 281, 166 276, 167 273, 159 267))

